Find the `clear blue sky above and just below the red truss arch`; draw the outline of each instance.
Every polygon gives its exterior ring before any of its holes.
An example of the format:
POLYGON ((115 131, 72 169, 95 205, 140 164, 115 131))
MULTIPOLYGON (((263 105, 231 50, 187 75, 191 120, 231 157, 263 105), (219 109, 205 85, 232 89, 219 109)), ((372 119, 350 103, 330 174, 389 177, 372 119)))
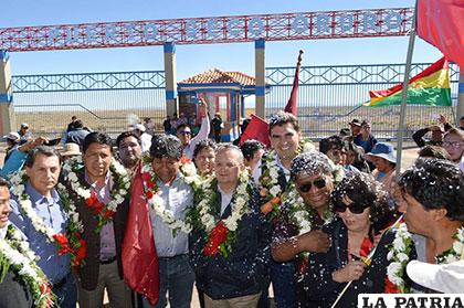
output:
MULTIPOLYGON (((310 12, 412 7, 413 0, 14 0, 2 1, 0 28, 156 20, 190 17, 310 12)), ((266 43, 266 66, 294 65, 298 50, 304 65, 403 63, 408 38, 338 39, 266 43)), ((12 53, 14 75, 164 70, 162 46, 12 53)), ((414 62, 433 62, 440 52, 418 38, 414 62)), ((254 44, 177 46, 178 79, 211 67, 254 75, 254 44)))

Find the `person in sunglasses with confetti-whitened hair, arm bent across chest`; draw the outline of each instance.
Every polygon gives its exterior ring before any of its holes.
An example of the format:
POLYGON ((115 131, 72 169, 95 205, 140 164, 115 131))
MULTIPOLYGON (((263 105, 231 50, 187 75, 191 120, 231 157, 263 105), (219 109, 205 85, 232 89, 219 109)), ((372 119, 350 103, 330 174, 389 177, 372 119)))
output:
POLYGON ((335 181, 342 178, 342 168, 316 151, 300 153, 291 166, 292 187, 281 206, 273 234, 272 256, 276 262, 294 259, 296 265, 296 301, 307 304, 306 282, 309 252, 327 252, 329 238, 319 229, 334 220, 329 206, 335 181))

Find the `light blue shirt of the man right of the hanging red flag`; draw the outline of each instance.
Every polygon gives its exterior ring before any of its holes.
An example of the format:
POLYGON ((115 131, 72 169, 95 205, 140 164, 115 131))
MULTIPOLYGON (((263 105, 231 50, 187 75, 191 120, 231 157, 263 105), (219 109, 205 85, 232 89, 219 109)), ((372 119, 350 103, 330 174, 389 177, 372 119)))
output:
MULTIPOLYGON (((179 174, 170 185, 160 180, 157 180, 156 184, 159 187, 159 195, 166 209, 172 211, 177 220, 183 220, 186 209, 193 204, 193 191, 190 185, 181 180, 179 174)), ((172 230, 162 222, 161 217, 155 214, 151 208, 150 219, 158 256, 172 257, 188 253, 188 234, 179 230, 173 236, 172 230)))

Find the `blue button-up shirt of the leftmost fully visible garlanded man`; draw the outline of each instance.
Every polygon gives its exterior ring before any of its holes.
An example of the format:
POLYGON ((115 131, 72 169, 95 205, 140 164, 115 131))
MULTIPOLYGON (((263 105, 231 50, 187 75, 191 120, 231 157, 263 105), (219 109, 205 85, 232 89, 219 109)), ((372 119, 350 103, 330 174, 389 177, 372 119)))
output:
MULTIPOLYGON (((53 189, 51 198, 46 198, 28 182, 25 193, 30 197, 35 213, 43 219, 46 226, 53 229, 55 233, 66 232, 67 217, 56 190, 53 189)), ((59 255, 56 244, 50 243, 43 233, 34 229, 31 220, 22 215, 15 199, 11 199, 10 204, 12 209, 10 221, 28 237, 31 249, 40 257, 36 264, 52 284, 61 282, 71 270, 68 254, 59 255)))

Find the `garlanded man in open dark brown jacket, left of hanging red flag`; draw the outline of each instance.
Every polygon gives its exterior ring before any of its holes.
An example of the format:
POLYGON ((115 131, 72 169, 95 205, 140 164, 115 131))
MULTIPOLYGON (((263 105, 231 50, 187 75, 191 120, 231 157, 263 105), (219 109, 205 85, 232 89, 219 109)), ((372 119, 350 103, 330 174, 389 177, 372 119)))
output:
MULTIPOLYGON (((105 288, 112 307, 131 307, 130 290, 123 280, 122 243, 129 209, 130 177, 113 158, 108 135, 88 134, 80 158, 68 160, 63 184, 74 201, 86 243, 81 266, 75 267, 81 307, 102 307, 105 288)), ((76 211, 73 213, 73 211, 76 211)))

